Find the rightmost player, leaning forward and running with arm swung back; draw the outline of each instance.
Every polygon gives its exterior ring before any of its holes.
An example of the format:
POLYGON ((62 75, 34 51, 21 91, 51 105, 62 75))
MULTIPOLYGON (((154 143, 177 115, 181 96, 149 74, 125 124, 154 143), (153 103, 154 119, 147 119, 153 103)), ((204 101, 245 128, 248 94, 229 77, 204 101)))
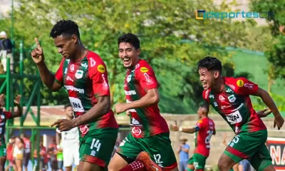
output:
POLYGON ((220 171, 227 171, 243 159, 249 160, 255 170, 274 170, 271 156, 264 143, 267 130, 252 108, 249 95, 260 97, 274 114, 274 128, 284 124, 269 93, 246 78, 222 76, 222 63, 207 56, 198 63, 199 79, 204 88, 203 98, 227 121, 236 135, 219 158, 220 171))

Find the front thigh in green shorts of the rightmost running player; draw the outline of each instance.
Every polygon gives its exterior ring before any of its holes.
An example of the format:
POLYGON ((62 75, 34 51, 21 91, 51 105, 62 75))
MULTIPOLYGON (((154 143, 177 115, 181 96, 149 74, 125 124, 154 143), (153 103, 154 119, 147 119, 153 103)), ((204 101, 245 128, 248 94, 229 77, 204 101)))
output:
POLYGON ((231 157, 236 163, 249 159, 259 150, 259 146, 266 142, 266 138, 266 130, 239 133, 229 142, 224 154, 231 157))

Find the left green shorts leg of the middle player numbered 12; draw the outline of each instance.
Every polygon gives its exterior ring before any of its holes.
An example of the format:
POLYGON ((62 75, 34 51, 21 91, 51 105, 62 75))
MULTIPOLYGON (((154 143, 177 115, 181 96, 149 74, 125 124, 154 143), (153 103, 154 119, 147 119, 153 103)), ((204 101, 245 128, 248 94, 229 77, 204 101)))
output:
POLYGON ((140 152, 142 152, 142 147, 140 144, 141 138, 134 138, 131 133, 125 137, 125 139, 120 142, 117 153, 120 157, 123 157, 128 164, 135 161, 135 158, 140 152))

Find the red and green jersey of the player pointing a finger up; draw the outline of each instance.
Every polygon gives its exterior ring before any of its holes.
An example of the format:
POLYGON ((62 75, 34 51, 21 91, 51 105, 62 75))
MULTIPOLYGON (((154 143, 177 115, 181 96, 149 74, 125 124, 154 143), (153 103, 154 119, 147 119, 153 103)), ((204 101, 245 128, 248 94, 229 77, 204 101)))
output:
MULTIPOLYGON (((56 81, 68 91, 75 117, 84 115, 97 104, 99 96, 110 95, 105 63, 98 54, 88 51, 77 61, 63 58, 56 72, 56 81)), ((118 128, 112 110, 88 125, 81 125, 81 134, 98 128, 118 128)))

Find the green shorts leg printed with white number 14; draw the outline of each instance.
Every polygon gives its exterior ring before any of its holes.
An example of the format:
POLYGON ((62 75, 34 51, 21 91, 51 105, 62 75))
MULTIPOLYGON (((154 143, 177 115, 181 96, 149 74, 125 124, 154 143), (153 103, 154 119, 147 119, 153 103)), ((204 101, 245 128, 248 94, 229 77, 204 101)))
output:
POLYGON ((84 136, 79 148, 81 161, 106 167, 110 162, 117 135, 118 129, 100 129, 89 132, 84 136))

